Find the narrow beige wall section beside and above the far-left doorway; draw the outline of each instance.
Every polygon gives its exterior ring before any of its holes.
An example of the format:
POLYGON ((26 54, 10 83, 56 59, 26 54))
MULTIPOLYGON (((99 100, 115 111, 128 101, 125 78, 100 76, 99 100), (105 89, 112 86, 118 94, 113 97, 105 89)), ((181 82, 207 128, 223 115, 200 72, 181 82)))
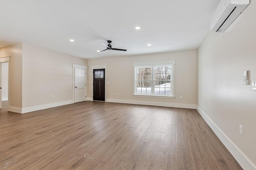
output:
POLYGON ((10 107, 22 108, 22 43, 0 48, 0 57, 11 56, 10 107))

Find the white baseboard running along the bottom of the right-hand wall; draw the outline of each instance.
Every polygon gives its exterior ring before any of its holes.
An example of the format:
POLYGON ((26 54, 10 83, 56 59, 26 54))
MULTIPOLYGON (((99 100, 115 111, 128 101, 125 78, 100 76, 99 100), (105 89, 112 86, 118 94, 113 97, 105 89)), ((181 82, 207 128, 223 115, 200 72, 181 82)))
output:
POLYGON ((256 166, 244 155, 244 153, 223 133, 223 131, 202 111, 196 106, 196 110, 200 113, 206 123, 212 128, 220 141, 225 145, 229 152, 234 156, 237 162, 244 170, 256 170, 256 166))

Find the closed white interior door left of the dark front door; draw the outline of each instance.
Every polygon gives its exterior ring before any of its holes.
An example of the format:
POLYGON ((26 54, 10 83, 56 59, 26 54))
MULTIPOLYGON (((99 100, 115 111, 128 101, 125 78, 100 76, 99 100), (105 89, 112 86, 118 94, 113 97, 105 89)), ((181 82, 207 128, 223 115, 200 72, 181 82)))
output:
POLYGON ((86 69, 75 68, 75 103, 86 100, 86 69))

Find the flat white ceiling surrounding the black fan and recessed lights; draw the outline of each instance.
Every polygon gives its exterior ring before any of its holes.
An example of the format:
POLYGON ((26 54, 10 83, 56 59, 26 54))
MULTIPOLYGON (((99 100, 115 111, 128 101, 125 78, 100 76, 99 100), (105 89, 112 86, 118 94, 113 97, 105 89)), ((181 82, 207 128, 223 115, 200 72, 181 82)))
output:
POLYGON ((0 0, 0 47, 23 42, 86 59, 197 49, 219 2, 0 0), (127 51, 97 53, 106 40, 127 51))

